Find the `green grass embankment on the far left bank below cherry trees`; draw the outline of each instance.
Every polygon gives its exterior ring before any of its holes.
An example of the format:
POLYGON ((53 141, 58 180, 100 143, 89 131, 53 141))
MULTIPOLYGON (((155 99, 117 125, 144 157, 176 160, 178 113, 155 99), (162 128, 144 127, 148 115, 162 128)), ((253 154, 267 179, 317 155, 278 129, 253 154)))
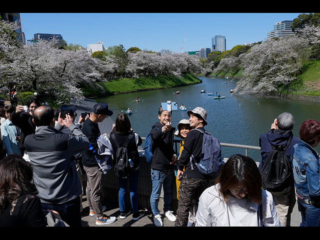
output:
POLYGON ((170 88, 202 82, 191 73, 183 74, 180 78, 170 75, 141 76, 139 78, 117 78, 107 82, 99 82, 105 92, 100 89, 82 86, 81 89, 85 97, 95 97, 103 95, 113 95, 126 92, 145 91, 150 89, 170 88))

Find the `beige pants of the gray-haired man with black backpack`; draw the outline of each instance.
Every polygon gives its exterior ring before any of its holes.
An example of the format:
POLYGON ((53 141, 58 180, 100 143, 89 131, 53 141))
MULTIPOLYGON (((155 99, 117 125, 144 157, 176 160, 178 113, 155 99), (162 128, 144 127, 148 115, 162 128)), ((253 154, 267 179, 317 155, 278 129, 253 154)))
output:
POLYGON ((290 226, 291 213, 295 204, 294 185, 289 186, 285 191, 271 192, 271 194, 281 226, 290 226))

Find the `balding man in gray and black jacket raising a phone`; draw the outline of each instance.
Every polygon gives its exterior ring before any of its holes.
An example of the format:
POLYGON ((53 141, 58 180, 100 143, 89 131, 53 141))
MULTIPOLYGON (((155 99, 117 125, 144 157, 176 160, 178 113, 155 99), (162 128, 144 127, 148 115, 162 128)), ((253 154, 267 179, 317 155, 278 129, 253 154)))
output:
POLYGON ((42 209, 57 211, 70 226, 81 226, 79 195, 82 190, 71 156, 87 148, 89 141, 69 115, 63 119, 59 116, 54 127, 53 108, 48 105, 36 108, 32 121, 37 129, 25 138, 25 147, 42 209), (72 135, 61 132, 63 126, 68 127, 72 135))

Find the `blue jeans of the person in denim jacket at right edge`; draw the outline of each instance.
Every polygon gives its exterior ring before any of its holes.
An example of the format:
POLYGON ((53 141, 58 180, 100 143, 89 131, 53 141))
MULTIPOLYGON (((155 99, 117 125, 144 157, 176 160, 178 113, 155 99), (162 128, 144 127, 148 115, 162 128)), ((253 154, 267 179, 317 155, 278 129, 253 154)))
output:
POLYGON ((300 226, 320 226, 320 208, 297 200, 301 212, 300 226))

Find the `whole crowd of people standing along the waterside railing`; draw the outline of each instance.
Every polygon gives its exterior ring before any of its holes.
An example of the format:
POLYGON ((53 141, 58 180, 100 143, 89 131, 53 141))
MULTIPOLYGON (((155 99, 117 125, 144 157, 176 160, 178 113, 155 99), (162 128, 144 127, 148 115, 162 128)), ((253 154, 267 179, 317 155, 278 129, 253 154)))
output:
MULTIPOLYGON (((112 167, 119 182, 119 218, 132 214, 132 220, 138 220, 144 215, 137 203, 137 147, 142 140, 128 116, 119 113, 107 134, 98 126, 113 114, 106 103, 96 103, 77 122, 75 111, 71 106, 62 114, 37 99, 27 108, 0 107, 0 226, 81 226, 84 175, 89 215, 95 216, 96 225, 113 223, 116 217, 103 213, 101 201, 102 179, 112 167), (130 206, 125 204, 127 186, 130 206)), ((195 107, 187 115, 173 127, 170 112, 160 107, 159 120, 151 126, 150 207, 155 226, 163 226, 158 207, 162 188, 163 215, 175 226, 289 226, 295 202, 301 226, 320 225, 320 159, 314 150, 320 142, 320 122, 303 121, 297 137, 292 134, 293 116, 281 113, 260 136, 258 166, 252 158, 236 154, 212 177, 198 169, 207 112, 195 107), (181 139, 179 152, 173 149, 174 136, 181 139), (265 175, 274 171, 270 159, 276 157, 289 165, 284 183, 273 181, 277 187, 272 188, 265 175), (174 179, 176 214, 171 206, 174 179)))

